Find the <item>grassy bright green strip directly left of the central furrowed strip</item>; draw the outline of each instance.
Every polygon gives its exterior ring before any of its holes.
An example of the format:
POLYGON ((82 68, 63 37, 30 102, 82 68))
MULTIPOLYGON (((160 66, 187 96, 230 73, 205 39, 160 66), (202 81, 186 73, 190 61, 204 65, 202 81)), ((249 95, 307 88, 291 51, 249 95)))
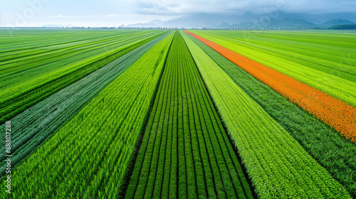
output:
POLYGON ((142 55, 21 163, 11 176, 15 198, 117 197, 172 38, 142 55))

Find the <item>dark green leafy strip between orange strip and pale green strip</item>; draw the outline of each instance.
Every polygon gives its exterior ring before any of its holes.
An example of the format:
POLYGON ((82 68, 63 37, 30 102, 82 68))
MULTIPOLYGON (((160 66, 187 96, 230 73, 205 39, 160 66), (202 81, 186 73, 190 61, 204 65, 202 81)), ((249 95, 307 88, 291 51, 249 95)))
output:
POLYGON ((209 46, 189 36, 248 96, 296 139, 305 151, 356 198, 355 143, 256 80, 209 46))

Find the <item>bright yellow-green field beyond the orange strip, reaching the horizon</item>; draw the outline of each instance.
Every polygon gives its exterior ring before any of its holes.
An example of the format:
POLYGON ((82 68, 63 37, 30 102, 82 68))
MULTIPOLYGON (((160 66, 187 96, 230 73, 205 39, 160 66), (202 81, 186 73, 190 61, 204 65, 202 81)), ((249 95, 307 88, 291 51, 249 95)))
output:
POLYGON ((275 32, 274 37, 279 40, 266 44, 271 33, 252 33, 246 38, 238 38, 244 33, 236 31, 192 33, 356 107, 356 72, 352 64, 356 61, 355 37, 317 34, 308 38, 305 33, 278 37, 275 32), (279 45, 277 50, 276 45, 279 45), (308 56, 304 58, 302 52, 308 56))

